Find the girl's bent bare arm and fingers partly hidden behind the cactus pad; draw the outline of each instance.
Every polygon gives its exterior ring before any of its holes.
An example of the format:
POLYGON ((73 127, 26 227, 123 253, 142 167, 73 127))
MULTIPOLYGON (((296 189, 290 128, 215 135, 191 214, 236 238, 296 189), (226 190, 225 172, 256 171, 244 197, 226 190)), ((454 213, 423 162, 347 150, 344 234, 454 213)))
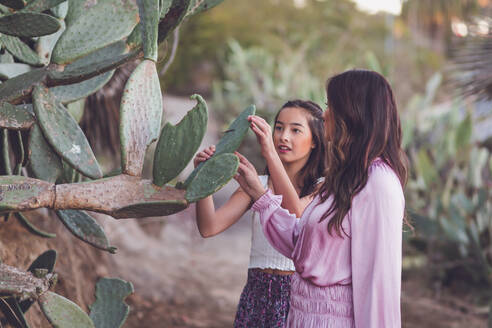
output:
MULTIPOLYGON (((194 159, 195 167, 209 159, 215 152, 211 146, 198 153, 194 159)), ((251 198, 241 188, 238 188, 229 200, 219 209, 215 209, 212 196, 196 203, 196 223, 200 235, 204 238, 215 236, 233 225, 248 210, 251 198)))

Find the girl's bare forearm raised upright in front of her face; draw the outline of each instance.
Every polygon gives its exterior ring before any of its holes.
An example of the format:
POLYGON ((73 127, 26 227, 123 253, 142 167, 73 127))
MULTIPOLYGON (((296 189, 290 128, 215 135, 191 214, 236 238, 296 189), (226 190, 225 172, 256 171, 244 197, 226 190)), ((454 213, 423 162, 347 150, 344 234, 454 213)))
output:
POLYGON ((272 139, 272 129, 270 125, 261 117, 252 115, 248 117, 251 122, 251 130, 256 134, 261 145, 261 154, 267 161, 270 178, 275 189, 275 193, 282 195, 282 207, 290 213, 301 217, 305 204, 299 199, 296 189, 284 169, 284 165, 275 151, 272 139))

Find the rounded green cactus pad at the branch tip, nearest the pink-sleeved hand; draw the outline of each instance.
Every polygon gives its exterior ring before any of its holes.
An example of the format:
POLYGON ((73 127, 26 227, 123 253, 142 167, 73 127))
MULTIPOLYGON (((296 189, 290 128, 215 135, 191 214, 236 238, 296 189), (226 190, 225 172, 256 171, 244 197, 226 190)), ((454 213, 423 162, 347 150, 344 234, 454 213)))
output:
POLYGON ((239 159, 227 153, 207 160, 186 189, 187 201, 196 202, 222 188, 236 174, 239 159))

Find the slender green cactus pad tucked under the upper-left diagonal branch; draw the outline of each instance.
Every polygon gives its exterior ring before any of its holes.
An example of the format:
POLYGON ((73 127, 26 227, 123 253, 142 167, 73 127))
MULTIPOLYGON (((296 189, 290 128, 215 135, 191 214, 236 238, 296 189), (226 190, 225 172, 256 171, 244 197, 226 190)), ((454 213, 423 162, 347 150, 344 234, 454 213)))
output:
POLYGON ((83 82, 60 85, 50 88, 50 91, 55 95, 61 103, 66 104, 85 98, 97 90, 101 89, 113 76, 114 71, 95 76, 83 82))

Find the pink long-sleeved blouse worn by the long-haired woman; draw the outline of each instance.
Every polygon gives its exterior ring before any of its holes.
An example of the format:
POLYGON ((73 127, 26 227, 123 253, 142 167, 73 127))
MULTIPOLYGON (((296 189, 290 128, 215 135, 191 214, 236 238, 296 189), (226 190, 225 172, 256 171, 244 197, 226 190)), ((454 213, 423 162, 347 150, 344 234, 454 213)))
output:
POLYGON ((316 196, 297 220, 280 207, 282 196, 269 190, 253 210, 260 213, 269 242, 294 261, 303 279, 322 287, 352 284, 356 327, 401 327, 405 200, 398 177, 382 160, 373 162, 342 223, 350 238, 330 236, 328 219, 319 223, 331 202, 316 196))

